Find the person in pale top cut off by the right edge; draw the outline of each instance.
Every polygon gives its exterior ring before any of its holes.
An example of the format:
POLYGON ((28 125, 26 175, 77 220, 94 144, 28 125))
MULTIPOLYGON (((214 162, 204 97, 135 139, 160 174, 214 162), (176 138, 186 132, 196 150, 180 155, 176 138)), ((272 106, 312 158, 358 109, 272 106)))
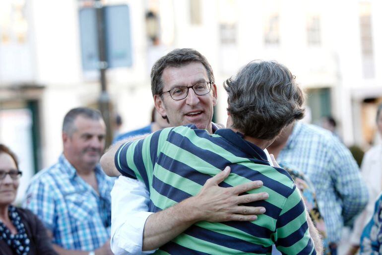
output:
MULTIPOLYGON (((382 104, 378 106, 376 123, 378 132, 382 135, 382 104)), ((352 247, 348 255, 357 253, 362 230, 372 217, 376 199, 382 191, 382 144, 375 145, 365 153, 361 164, 361 174, 369 190, 369 203, 354 222, 350 239, 352 247)))

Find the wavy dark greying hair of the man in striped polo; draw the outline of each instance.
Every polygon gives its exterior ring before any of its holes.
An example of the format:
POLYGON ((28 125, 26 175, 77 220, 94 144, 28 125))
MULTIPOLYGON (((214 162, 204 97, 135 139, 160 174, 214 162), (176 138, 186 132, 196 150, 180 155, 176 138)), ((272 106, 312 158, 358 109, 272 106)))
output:
POLYGON ((304 93, 282 64, 253 61, 224 82, 233 128, 259 139, 273 139, 304 117, 304 93))

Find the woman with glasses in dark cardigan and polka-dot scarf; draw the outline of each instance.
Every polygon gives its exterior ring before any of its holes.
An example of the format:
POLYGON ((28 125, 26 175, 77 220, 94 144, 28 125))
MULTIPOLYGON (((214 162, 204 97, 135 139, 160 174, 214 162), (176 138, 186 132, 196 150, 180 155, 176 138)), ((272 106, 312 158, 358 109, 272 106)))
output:
POLYGON ((0 254, 56 255, 37 216, 12 205, 21 174, 16 156, 0 144, 0 254))

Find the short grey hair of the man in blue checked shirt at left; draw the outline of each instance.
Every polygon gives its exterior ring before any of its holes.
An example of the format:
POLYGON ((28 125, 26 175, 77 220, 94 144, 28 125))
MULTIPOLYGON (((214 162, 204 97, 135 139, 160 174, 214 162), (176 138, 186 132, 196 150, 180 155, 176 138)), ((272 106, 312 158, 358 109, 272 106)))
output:
POLYGON ((78 116, 82 116, 86 119, 90 120, 103 120, 101 112, 95 109, 87 108, 87 107, 78 107, 73 108, 64 117, 63 123, 63 133, 71 136, 73 132, 76 130, 74 126, 74 121, 78 116))

